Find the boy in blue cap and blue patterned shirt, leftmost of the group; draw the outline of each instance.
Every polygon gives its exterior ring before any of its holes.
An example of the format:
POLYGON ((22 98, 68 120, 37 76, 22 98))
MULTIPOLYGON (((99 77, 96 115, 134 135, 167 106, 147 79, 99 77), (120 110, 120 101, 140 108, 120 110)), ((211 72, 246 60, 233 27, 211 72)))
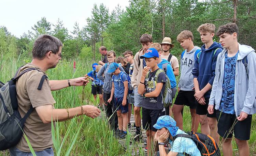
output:
POLYGON ((100 105, 102 105, 103 104, 103 95, 102 95, 103 81, 97 78, 96 67, 98 66, 98 64, 94 63, 92 66, 93 66, 93 70, 87 73, 85 77, 86 76, 93 77, 94 81, 91 83, 91 94, 93 94, 95 101, 97 98, 97 94, 99 94, 100 105))

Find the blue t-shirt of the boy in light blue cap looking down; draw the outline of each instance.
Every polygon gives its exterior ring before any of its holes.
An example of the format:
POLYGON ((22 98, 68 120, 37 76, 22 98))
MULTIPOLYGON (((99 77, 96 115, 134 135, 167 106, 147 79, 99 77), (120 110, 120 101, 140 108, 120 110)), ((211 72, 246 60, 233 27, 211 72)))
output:
POLYGON ((115 98, 124 97, 125 86, 123 82, 127 81, 125 72, 121 71, 118 75, 113 75, 111 81, 114 82, 114 86, 115 86, 115 98), (122 76, 122 80, 120 75, 122 76))

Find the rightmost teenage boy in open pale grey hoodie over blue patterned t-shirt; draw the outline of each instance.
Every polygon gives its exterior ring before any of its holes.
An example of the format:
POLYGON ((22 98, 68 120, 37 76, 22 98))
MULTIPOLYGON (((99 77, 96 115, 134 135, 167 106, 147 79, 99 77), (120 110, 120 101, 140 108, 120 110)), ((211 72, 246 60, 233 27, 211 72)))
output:
POLYGON ((218 55, 208 112, 217 110, 218 134, 223 137, 223 154, 232 156, 234 134, 239 155, 249 156, 252 114, 256 113, 255 50, 237 41, 238 27, 228 23, 216 35, 224 50, 218 55))

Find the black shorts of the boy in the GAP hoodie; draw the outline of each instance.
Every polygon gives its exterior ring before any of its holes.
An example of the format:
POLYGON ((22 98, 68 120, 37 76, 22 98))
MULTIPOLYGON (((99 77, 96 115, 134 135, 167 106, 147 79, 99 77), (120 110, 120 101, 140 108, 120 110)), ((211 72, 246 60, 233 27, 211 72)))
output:
POLYGON ((180 90, 174 102, 175 105, 186 105, 189 106, 190 109, 196 109, 195 104, 195 91, 184 91, 180 90))

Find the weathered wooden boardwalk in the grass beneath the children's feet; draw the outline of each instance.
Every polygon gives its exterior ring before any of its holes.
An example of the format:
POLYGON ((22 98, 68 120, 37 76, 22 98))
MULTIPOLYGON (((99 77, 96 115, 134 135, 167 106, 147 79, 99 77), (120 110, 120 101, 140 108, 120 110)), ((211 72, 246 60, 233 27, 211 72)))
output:
MULTIPOLYGON (((102 111, 102 116, 104 118, 106 118, 106 114, 105 114, 105 111, 103 110, 102 111)), ((131 138, 132 136, 135 134, 136 132, 136 128, 135 127, 132 127, 133 124, 134 124, 134 116, 133 114, 131 114, 131 127, 128 127, 128 132, 130 133, 131 135, 131 138)), ((141 120, 141 127, 142 127, 142 120, 141 120)), ((141 129, 142 130, 142 136, 143 136, 143 139, 141 141, 137 141, 137 142, 130 142, 128 141, 127 139, 129 139, 129 136, 127 135, 127 137, 125 139, 118 139, 118 142, 120 144, 123 145, 123 147, 126 149, 126 150, 129 150, 131 151, 131 154, 132 156, 141 156, 141 155, 147 155, 147 152, 144 151, 144 148, 145 148, 145 139, 146 139, 146 131, 144 129, 141 129), (126 141, 127 140, 127 141, 126 141), (129 142, 129 147, 126 145, 126 143, 129 142)), ((130 140, 131 140, 130 138, 130 140)))

